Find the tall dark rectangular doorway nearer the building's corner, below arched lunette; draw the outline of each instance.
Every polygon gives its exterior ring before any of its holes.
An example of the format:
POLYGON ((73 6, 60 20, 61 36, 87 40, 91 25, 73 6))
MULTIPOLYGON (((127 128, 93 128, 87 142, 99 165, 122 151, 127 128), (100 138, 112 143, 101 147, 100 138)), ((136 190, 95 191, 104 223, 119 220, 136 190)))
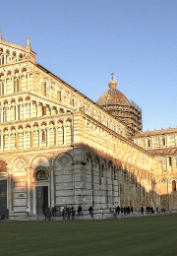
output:
POLYGON ((43 215, 46 208, 48 208, 48 187, 36 187, 36 214, 43 215))

